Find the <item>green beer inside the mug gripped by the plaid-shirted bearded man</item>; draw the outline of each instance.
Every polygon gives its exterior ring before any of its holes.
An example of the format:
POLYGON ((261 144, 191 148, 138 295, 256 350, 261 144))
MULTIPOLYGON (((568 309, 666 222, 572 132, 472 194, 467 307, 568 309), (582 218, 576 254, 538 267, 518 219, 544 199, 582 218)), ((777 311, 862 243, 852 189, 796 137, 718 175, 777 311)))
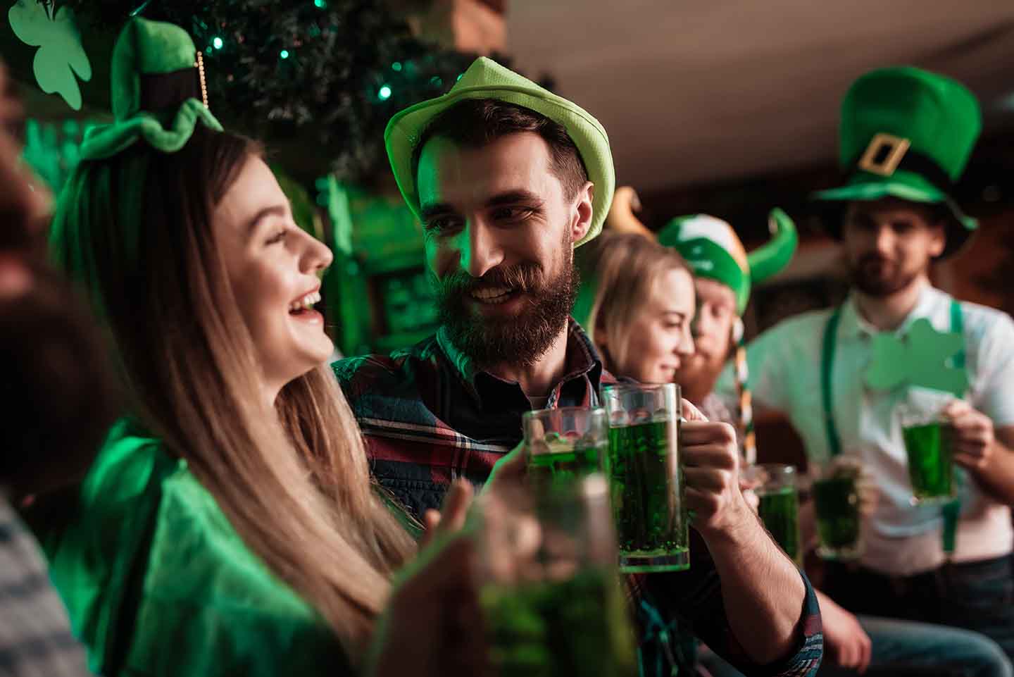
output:
POLYGON ((670 425, 656 421, 609 428, 608 472, 621 569, 690 566, 686 516, 670 425))

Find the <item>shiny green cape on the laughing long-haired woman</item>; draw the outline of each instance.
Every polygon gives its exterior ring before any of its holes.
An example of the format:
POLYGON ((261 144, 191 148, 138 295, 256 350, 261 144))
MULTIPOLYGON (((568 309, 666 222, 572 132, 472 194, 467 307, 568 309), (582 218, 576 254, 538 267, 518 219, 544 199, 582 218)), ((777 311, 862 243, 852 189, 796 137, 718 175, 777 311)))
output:
POLYGON ((59 529, 51 576, 106 677, 353 674, 314 610, 158 441, 118 423, 59 529))

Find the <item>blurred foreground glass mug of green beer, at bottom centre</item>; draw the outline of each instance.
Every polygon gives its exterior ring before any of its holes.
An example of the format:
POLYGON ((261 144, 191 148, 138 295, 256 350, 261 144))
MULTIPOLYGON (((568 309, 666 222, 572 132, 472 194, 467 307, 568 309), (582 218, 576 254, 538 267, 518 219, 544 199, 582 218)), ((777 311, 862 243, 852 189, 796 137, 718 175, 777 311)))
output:
POLYGON ((480 604, 499 677, 636 677, 605 478, 498 486, 479 503, 480 604))

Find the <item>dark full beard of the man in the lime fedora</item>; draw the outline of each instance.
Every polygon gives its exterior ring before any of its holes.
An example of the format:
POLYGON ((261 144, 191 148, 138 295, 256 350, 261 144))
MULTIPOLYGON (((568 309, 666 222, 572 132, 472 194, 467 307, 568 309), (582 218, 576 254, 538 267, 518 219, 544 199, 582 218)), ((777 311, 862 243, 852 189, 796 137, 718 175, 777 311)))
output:
POLYGON ((435 281, 440 324, 451 343, 481 368, 498 363, 528 366, 546 354, 567 326, 578 285, 578 271, 571 257, 551 280, 545 278, 541 266, 535 263, 494 268, 479 278, 453 273, 435 281), (527 308, 513 317, 476 317, 465 299, 472 290, 483 287, 517 289, 525 294, 527 308))

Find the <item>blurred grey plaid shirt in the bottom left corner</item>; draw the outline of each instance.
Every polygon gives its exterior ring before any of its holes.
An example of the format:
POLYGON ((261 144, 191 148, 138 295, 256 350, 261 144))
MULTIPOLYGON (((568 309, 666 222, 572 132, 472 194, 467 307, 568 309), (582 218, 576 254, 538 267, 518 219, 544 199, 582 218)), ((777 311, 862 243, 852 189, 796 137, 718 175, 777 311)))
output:
POLYGON ((35 539, 0 495, 0 675, 90 675, 35 539))

